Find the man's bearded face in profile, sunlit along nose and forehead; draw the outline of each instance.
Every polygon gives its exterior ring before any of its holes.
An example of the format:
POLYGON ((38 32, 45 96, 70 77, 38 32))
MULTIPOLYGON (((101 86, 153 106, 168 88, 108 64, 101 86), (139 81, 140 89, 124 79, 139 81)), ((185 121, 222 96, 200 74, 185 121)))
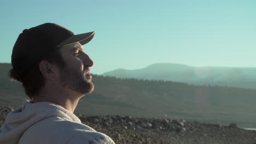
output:
POLYGON ((65 62, 65 67, 60 69, 61 85, 85 95, 94 91, 89 69, 94 62, 84 53, 83 46, 69 44, 61 47, 60 52, 65 62))

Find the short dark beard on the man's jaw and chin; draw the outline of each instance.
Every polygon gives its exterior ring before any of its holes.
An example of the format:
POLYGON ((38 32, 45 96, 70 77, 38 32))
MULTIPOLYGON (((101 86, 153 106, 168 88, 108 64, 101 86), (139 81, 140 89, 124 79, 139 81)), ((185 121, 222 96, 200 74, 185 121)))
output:
POLYGON ((86 71, 89 71, 89 67, 86 67, 85 71, 73 70, 68 67, 61 69, 61 86, 84 95, 92 93, 94 83, 91 82, 91 76, 85 75, 86 71))

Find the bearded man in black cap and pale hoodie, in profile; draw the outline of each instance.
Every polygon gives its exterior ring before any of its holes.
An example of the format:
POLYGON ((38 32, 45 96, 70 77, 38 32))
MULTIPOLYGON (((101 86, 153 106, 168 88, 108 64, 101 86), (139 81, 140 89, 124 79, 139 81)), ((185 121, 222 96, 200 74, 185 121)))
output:
POLYGON ((73 114, 80 98, 94 91, 84 52, 95 32, 74 35, 55 23, 25 29, 11 55, 11 79, 22 82, 30 101, 8 113, 0 143, 114 143, 73 114))

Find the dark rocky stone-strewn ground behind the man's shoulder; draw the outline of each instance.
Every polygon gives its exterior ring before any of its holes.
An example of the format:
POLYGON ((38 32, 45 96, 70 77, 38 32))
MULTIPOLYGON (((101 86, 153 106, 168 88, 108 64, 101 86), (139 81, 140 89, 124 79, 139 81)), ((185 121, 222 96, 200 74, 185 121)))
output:
MULTIPOLYGON (((12 107, 0 107, 0 127, 12 107)), ((256 144, 256 131, 237 127, 177 119, 133 118, 131 116, 85 116, 81 121, 110 136, 115 143, 245 143, 256 144)))

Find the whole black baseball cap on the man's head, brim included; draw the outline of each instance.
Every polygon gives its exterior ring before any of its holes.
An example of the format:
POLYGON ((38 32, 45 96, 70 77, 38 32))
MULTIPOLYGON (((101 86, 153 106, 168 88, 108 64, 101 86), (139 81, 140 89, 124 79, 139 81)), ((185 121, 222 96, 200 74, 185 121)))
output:
POLYGON ((79 42, 89 43, 96 32, 74 35, 69 29, 55 23, 24 29, 19 35, 11 54, 12 73, 21 77, 33 65, 61 46, 79 42))

